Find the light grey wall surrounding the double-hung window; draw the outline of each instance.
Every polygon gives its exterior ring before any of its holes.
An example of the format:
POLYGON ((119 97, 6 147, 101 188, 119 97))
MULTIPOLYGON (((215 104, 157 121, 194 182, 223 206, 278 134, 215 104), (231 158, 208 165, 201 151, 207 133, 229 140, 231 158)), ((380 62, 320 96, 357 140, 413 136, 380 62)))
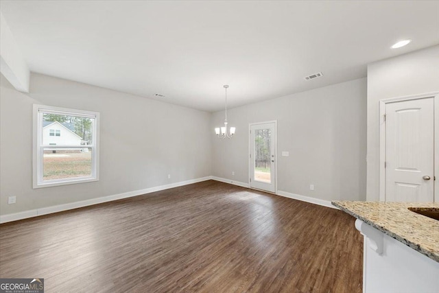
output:
POLYGON ((0 96, 0 215, 211 175, 211 113, 40 74, 0 96), (100 113, 98 182, 32 189, 32 104, 100 113))

